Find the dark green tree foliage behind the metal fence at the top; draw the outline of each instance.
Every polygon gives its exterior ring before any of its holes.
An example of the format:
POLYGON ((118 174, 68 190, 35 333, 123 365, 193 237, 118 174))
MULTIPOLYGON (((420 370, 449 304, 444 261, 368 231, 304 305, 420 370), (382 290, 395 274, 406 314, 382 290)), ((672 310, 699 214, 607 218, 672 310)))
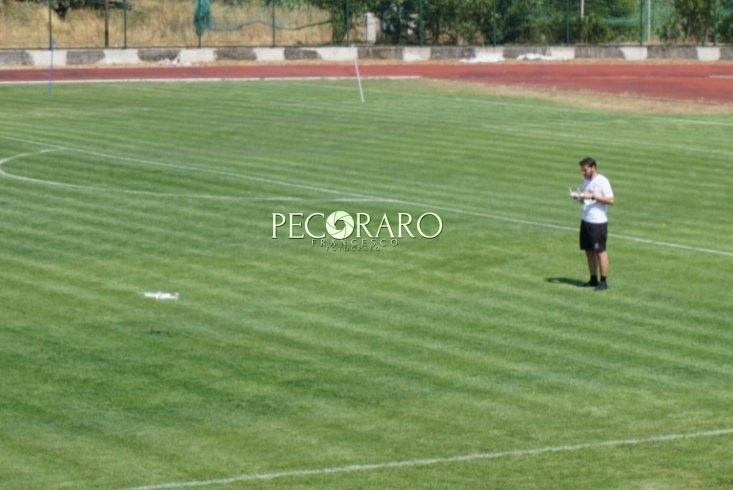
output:
MULTIPOLYGON (((49 0, 15 0, 46 4, 49 0)), ((134 0, 108 0, 110 8, 132 8, 134 0)), ((639 35, 643 0, 584 0, 581 22, 577 0, 210 0, 228 5, 296 8, 330 13, 333 42, 349 42, 349 32, 366 12, 380 20, 393 44, 563 44, 623 42, 639 35), (635 33, 635 34, 634 34, 635 33)), ((733 42, 733 0, 654 0, 664 12, 657 35, 662 41, 704 44, 713 33, 733 42)), ((50 0, 64 18, 72 9, 104 9, 105 0, 50 0)))

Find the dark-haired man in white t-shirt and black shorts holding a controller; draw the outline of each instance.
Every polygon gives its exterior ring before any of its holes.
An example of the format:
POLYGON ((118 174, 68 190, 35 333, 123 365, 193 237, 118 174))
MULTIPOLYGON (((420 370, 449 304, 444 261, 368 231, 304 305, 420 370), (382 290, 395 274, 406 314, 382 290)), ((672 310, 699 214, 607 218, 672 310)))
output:
POLYGON ((580 249, 585 251, 588 259, 590 280, 584 287, 593 287, 596 291, 608 289, 608 206, 614 204, 611 183, 598 173, 596 161, 585 157, 580 161, 583 174, 583 187, 580 192, 571 193, 573 199, 582 204, 580 221, 580 249), (600 279, 598 277, 600 274, 600 279))

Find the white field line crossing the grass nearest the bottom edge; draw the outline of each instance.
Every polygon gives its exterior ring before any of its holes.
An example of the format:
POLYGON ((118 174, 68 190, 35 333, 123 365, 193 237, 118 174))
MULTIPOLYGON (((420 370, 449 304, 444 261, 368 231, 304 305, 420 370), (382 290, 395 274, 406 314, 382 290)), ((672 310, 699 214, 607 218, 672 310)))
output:
POLYGON ((685 439, 700 439, 703 437, 718 437, 733 434, 733 429, 717 429, 689 434, 667 434, 660 436, 643 437, 638 439, 620 439, 610 441, 588 442, 581 444, 570 444, 564 446, 545 446, 534 449, 513 449, 508 451, 481 452, 463 454, 458 456, 445 456, 435 458, 408 459, 400 461, 388 461, 384 463, 354 464, 346 466, 332 466, 326 468, 312 468, 301 470, 274 471, 269 473, 245 473, 227 478, 214 478, 211 480, 191 480, 181 482, 157 483, 143 485, 140 487, 128 488, 126 490, 163 490, 175 488, 207 487, 213 485, 229 485, 232 483, 247 481, 269 481, 279 478, 298 478, 303 476, 323 476, 334 474, 348 474, 369 471, 380 471, 390 469, 403 469, 418 466, 435 466, 438 464, 463 463, 471 461, 482 461, 502 458, 515 458, 523 456, 537 456, 541 454, 585 451, 603 448, 614 448, 619 446, 638 446, 641 444, 674 442, 685 439))

